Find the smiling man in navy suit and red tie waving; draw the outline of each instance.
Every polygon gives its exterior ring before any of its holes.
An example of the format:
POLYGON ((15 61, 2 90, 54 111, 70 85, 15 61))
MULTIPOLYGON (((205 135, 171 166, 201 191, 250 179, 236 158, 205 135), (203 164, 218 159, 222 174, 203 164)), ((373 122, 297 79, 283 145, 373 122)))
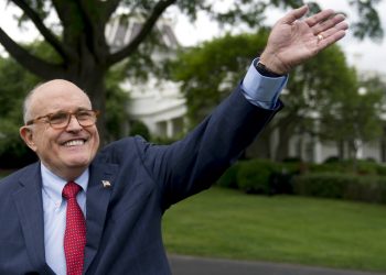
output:
POLYGON ((161 218, 208 188, 281 108, 287 74, 345 35, 332 10, 274 26, 243 82, 187 136, 141 138, 97 152, 97 112, 78 87, 52 80, 24 102, 20 134, 40 162, 0 183, 0 274, 170 274, 161 218))

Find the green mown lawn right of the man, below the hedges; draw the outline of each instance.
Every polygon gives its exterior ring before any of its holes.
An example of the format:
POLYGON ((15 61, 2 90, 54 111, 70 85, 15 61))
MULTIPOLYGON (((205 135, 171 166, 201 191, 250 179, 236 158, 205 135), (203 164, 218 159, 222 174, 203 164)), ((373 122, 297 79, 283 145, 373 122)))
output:
POLYGON ((386 207, 218 187, 172 207, 169 253, 386 272, 386 207))

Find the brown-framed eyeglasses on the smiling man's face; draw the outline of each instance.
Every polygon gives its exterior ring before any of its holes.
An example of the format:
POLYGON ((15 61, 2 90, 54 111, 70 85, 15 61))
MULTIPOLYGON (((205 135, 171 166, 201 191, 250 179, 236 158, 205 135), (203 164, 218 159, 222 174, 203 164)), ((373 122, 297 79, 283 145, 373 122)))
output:
POLYGON ((97 121, 98 114, 99 111, 95 110, 77 110, 75 112, 58 111, 29 120, 25 125, 32 125, 33 123, 45 120, 43 122, 50 123, 53 129, 64 129, 68 125, 72 116, 74 116, 82 127, 92 127, 97 121))

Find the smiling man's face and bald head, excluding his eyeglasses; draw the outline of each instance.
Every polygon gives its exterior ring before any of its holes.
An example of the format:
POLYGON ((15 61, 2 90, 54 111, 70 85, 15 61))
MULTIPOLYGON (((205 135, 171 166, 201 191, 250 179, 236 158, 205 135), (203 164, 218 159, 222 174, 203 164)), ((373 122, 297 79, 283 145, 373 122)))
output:
MULTIPOLYGON (((29 119, 34 119, 57 111, 90 110, 92 103, 74 84, 52 80, 36 88, 26 108, 29 119)), ((53 129, 43 119, 22 127, 20 134, 51 172, 67 180, 88 167, 99 146, 96 125, 82 127, 74 116, 64 129, 53 129)))

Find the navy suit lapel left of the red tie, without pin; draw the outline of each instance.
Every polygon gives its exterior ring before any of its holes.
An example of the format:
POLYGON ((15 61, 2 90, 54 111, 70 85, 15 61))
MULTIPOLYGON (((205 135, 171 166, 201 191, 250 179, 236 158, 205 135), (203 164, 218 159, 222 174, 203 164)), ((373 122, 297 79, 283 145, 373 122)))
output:
POLYGON ((13 194, 25 240, 28 255, 34 268, 53 274, 44 256, 44 218, 40 165, 31 167, 19 179, 20 188, 13 194), (31 172, 32 170, 32 172, 31 172))

